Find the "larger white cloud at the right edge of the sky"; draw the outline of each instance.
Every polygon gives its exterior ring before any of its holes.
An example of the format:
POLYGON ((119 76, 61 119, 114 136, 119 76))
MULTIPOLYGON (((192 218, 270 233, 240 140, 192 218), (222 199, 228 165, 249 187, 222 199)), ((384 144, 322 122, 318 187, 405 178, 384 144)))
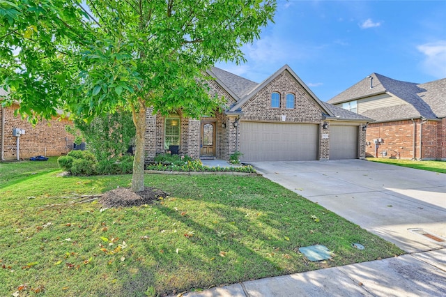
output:
POLYGON ((446 40, 418 45, 417 50, 424 54, 422 68, 434 77, 446 77, 446 40))

